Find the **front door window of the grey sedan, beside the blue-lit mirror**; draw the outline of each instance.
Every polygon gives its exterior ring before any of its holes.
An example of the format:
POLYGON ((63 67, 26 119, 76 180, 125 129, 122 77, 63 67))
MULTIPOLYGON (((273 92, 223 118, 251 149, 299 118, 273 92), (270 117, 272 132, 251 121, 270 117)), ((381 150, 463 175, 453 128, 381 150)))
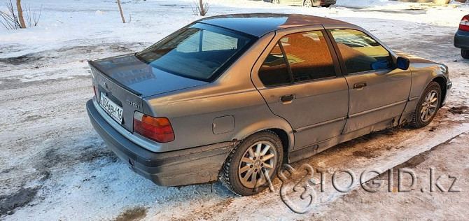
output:
POLYGON ((388 50, 362 31, 332 29, 348 73, 390 69, 393 59, 388 50))

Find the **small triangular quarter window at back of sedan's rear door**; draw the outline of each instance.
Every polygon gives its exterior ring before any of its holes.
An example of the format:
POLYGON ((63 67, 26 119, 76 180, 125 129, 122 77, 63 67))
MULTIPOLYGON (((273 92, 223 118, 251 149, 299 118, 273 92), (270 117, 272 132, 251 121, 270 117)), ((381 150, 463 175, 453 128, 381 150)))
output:
POLYGON ((286 59, 283 57, 279 43, 275 45, 274 49, 267 55, 264 63, 262 63, 262 66, 260 66, 259 78, 267 87, 291 83, 286 59))

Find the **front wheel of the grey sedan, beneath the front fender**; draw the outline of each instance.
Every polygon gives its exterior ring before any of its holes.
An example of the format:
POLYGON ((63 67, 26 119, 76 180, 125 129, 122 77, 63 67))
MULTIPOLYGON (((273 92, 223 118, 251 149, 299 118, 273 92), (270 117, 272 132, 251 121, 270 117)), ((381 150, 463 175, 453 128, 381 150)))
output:
POLYGON ((420 97, 419 103, 412 116, 412 127, 421 128, 430 124, 435 117, 442 99, 441 87, 432 81, 420 97))

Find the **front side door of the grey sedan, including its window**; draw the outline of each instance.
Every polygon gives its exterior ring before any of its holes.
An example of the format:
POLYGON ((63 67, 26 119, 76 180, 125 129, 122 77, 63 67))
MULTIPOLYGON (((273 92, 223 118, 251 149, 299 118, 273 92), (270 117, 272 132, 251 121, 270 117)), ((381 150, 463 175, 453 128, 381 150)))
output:
POLYGON ((330 34, 350 91, 344 134, 380 122, 397 124, 409 98, 410 71, 396 69, 391 53, 363 31, 331 29, 330 34))

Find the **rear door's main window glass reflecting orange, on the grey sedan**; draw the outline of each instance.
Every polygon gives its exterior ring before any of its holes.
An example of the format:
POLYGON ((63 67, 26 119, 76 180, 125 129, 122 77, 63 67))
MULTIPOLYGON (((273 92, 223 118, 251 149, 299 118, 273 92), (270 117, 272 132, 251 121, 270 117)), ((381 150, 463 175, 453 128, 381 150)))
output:
POLYGON ((295 83, 336 76, 322 31, 289 34, 280 41, 295 83))

